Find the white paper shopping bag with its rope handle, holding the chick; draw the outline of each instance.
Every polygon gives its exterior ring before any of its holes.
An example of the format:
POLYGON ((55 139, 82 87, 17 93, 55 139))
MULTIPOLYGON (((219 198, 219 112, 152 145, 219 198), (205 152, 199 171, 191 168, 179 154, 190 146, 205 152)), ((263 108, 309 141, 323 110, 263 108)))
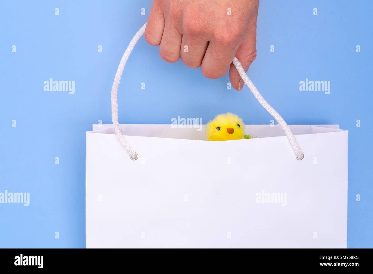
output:
POLYGON ((86 133, 87 248, 346 248, 348 131, 246 125, 256 138, 205 141, 205 125, 113 125, 86 133))

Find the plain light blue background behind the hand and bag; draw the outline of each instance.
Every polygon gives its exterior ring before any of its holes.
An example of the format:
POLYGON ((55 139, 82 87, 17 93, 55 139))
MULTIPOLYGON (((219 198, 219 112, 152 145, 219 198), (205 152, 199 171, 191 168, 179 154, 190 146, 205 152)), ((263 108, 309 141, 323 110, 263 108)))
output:
MULTIPOLYGON (((0 192, 30 192, 28 207, 0 204, 0 247, 84 248, 85 131, 112 123, 117 65, 151 1, 0 3, 0 192), (75 81, 75 94, 44 91, 50 78, 75 81)), ((289 124, 349 130, 348 248, 373 247, 372 9, 372 1, 261 1, 248 72, 289 124), (305 78, 331 81, 330 94, 300 91, 305 78)), ((122 77, 119 121, 171 123, 180 115, 206 123, 232 111, 247 124, 269 124, 247 86, 227 90, 228 82, 164 62, 142 37, 122 77)))

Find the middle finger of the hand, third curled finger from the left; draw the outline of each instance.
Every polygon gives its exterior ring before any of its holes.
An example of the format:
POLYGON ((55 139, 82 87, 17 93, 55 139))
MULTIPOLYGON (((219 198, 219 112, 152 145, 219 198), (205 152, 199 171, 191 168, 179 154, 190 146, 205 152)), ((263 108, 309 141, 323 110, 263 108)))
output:
POLYGON ((188 67, 197 68, 202 64, 208 42, 183 35, 180 48, 181 61, 188 67))

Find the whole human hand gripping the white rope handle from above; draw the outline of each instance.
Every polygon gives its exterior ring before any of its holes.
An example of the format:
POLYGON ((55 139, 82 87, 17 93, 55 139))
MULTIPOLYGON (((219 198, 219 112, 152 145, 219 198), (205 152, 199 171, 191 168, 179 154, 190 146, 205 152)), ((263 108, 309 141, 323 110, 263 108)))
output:
POLYGON ((181 57, 189 67, 202 66, 207 78, 230 67, 232 86, 241 90, 244 81, 232 60, 236 56, 247 71, 256 57, 258 6, 259 0, 153 0, 145 40, 160 45, 163 60, 181 57))

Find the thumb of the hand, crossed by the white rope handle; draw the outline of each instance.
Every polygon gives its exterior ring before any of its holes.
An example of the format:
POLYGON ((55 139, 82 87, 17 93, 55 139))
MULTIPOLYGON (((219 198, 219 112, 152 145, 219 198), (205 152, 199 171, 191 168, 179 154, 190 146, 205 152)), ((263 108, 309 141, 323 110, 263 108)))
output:
MULTIPOLYGON (((236 52, 236 57, 242 64, 245 72, 247 72, 249 66, 251 63, 253 63, 256 57, 256 21, 257 14, 251 18, 247 28, 246 37, 236 52)), ((242 87, 244 86, 244 81, 241 79, 241 76, 239 76, 239 73, 233 63, 229 69, 229 79, 231 79, 233 88, 241 91, 242 87)))

